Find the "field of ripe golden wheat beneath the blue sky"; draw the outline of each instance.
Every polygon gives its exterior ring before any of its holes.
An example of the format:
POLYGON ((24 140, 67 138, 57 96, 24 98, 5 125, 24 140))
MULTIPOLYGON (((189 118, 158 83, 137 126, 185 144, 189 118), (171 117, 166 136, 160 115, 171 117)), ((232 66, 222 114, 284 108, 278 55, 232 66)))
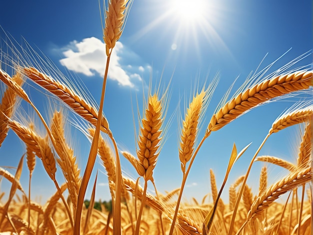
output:
POLYGON ((131 4, 132 0, 110 0, 105 10, 103 41, 107 60, 103 64, 99 106, 73 83, 60 79, 66 76, 57 68, 53 70, 50 63, 46 62, 44 67, 39 62, 30 62, 29 57, 36 56, 28 53, 25 58, 25 51, 13 45, 8 46, 10 52, 1 50, 0 80, 4 88, 0 93, 0 147, 9 134, 17 135, 24 143, 24 154, 18 156, 18 165, 10 166, 16 167, 14 174, 7 166, 0 165, 0 181, 10 183, 10 190, 0 194, 0 234, 311 234, 313 104, 301 97, 272 120, 244 175, 228 178, 236 160, 249 147, 248 144, 237 149, 233 144, 222 184, 216 183, 214 169, 209 169, 208 194, 201 201, 194 197, 190 201, 182 199, 184 190, 188 190, 190 168, 204 140, 262 104, 285 97, 297 98, 292 95, 298 93, 311 94, 311 66, 291 68, 299 60, 296 58, 283 69, 261 78, 251 77, 232 97, 226 93, 204 124, 203 135, 199 130, 217 79, 198 87, 186 104, 177 129, 181 185, 162 193, 157 190, 153 170, 166 141, 170 84, 165 84, 165 88, 149 87, 143 113, 139 115, 136 155, 119 147, 103 113, 103 102, 109 101, 104 100, 104 94, 111 54, 122 35, 131 4), (30 83, 46 94, 43 102, 49 109, 48 117, 33 103, 29 89, 24 89, 30 83), (54 105, 55 100, 59 105, 54 105), (28 107, 25 110, 29 113, 20 107, 21 103, 28 107), (300 136, 296 162, 259 155, 269 136, 290 126, 297 126, 300 136), (69 129, 78 129, 91 143, 85 168, 79 168, 75 156, 75 146, 79 143, 66 137, 69 129), (90 180, 97 157, 108 179, 111 200, 105 203, 97 203, 95 199, 99 172, 94 181, 90 180), (121 157, 134 167, 136 177, 122 171, 121 157), (258 191, 254 192, 247 178, 256 161, 264 164, 259 178, 254 179, 258 185, 258 191), (38 164, 55 186, 54 194, 44 203, 30 199, 32 172, 38 164), (282 172, 275 182, 268 179, 272 165, 282 172), (22 171, 29 175, 28 188, 20 183, 22 171), (61 174, 64 181, 58 180, 56 174, 61 174), (230 182, 229 188, 224 188, 226 182, 230 182), (147 190, 148 183, 153 185, 154 194, 147 190), (93 185, 90 198, 85 196, 88 185, 93 185), (222 192, 227 195, 227 202, 222 200, 222 192))

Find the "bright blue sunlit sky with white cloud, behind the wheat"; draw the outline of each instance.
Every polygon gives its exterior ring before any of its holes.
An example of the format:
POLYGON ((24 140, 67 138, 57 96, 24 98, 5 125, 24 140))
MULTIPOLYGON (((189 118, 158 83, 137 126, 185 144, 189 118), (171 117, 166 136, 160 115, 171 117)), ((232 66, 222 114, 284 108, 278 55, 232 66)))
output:
MULTIPOLYGON (((197 82, 201 87, 219 73, 219 83, 204 115, 199 134, 201 138, 219 100, 236 77, 233 92, 252 70, 255 71, 267 53, 260 69, 291 48, 272 66, 270 71, 274 71, 312 48, 312 3, 309 0, 303 0, 301 4, 292 0, 207 0, 206 6, 196 9, 197 15, 193 17, 178 12, 172 2, 175 0, 133 1, 122 36, 114 48, 104 100, 104 113, 120 149, 134 154, 132 110, 137 113, 136 99, 141 112, 142 90, 146 94, 150 78, 152 86, 159 82, 166 86, 172 77, 165 118, 170 125, 153 173, 156 187, 162 193, 180 186, 178 111, 184 110, 184 101, 189 100, 197 82)), ((191 5, 188 7, 192 8, 191 5)), ((4 32, 22 47, 25 47, 24 38, 35 51, 42 51, 49 57, 57 69, 64 74, 70 73, 72 79, 80 79, 94 100, 99 102, 105 48, 97 0, 11 0, 2 2, 1 8, 4 9, 0 14, 2 46, 3 41, 7 41, 4 32)), ((311 62, 312 56, 308 55, 297 65, 311 62)), ((34 103, 46 112, 48 108, 44 107, 40 92, 31 87, 28 91, 33 92, 31 98, 34 103)), ((241 149, 252 141, 246 153, 235 163, 227 185, 244 174, 249 159, 271 123, 291 105, 292 102, 280 101, 257 107, 212 133, 205 140, 191 168, 185 188, 186 198, 193 196, 201 199, 210 192, 210 168, 215 172, 219 187, 233 142, 241 149)), ((30 110, 29 107, 25 109, 30 110)), ((274 155, 294 162, 297 131, 298 127, 293 127, 272 135, 260 155, 274 155)), ((78 130, 72 130, 71 134, 78 164, 83 170, 89 142, 78 130)), ((23 143, 10 131, 0 148, 0 165, 16 166, 23 152, 23 143)), ((137 176, 122 156, 121 164, 127 175, 133 178, 137 176)), ((256 163, 248 179, 254 192, 258 188, 257 178, 262 165, 256 163)), ((279 171, 268 166, 272 178, 279 177, 279 171)), ((94 172, 97 168, 103 171, 98 163, 94 172)), ((27 188, 27 174, 25 164, 21 179, 24 188, 27 188)), ((41 196, 44 203, 55 189, 39 161, 33 174, 32 197, 39 199, 41 196)), ((60 171, 57 177, 62 181, 60 171)), ((109 198, 105 183, 106 176, 101 174, 98 177, 97 198, 109 198)), ((153 187, 149 185, 149 189, 152 191, 153 187)), ((9 184, 2 180, 0 190, 8 192, 9 184)), ((91 186, 87 197, 90 191, 91 186)), ((223 198, 227 200, 227 190, 223 198)))

